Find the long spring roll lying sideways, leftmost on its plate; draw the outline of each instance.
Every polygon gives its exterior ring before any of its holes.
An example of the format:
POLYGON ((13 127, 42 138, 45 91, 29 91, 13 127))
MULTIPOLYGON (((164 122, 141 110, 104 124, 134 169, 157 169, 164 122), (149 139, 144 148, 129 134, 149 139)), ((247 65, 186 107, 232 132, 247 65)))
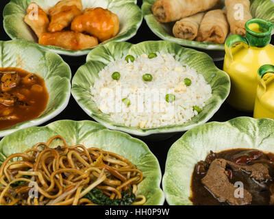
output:
POLYGON ((157 0, 151 10, 160 23, 168 23, 209 10, 220 2, 221 0, 157 0))

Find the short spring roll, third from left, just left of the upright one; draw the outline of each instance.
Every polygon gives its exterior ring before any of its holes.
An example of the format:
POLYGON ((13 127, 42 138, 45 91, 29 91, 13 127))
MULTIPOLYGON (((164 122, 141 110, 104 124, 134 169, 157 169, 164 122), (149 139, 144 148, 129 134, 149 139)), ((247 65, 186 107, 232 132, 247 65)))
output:
POLYGON ((199 27, 199 42, 215 42, 223 44, 229 32, 229 24, 224 10, 212 10, 203 16, 199 27))

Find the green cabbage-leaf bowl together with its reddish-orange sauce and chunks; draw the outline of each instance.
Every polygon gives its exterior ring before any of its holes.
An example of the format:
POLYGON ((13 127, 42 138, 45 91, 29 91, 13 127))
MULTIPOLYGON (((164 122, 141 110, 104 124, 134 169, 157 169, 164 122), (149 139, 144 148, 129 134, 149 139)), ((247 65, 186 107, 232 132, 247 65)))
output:
POLYGON ((0 41, 0 138, 57 116, 69 103, 71 69, 23 40, 0 41))

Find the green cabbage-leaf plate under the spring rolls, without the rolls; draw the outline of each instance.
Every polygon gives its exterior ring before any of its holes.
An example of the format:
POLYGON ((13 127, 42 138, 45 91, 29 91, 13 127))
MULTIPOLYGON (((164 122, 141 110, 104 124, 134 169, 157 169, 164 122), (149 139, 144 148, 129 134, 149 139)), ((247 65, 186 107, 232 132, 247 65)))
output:
MULTIPOLYGON (((151 11, 151 6, 156 0, 143 0, 142 14, 147 21, 147 25, 155 35, 162 40, 177 42, 186 47, 195 47, 206 50, 225 50, 225 44, 215 44, 212 42, 196 42, 194 40, 184 40, 173 36, 172 28, 174 23, 160 23, 156 20, 151 11)), ((222 0, 223 4, 225 0, 222 0)), ((250 11, 253 18, 262 18, 274 24, 274 1, 272 0, 251 0, 250 11)), ((273 30, 274 33, 274 30, 273 30)))

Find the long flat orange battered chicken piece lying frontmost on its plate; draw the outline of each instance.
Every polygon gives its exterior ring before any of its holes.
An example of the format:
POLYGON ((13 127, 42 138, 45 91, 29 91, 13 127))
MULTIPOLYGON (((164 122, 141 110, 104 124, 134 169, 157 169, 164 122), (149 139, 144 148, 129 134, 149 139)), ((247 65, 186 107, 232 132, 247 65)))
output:
POLYGON ((81 50, 95 47, 97 38, 73 31, 61 31, 56 33, 44 33, 39 38, 42 45, 52 45, 64 49, 81 50))

